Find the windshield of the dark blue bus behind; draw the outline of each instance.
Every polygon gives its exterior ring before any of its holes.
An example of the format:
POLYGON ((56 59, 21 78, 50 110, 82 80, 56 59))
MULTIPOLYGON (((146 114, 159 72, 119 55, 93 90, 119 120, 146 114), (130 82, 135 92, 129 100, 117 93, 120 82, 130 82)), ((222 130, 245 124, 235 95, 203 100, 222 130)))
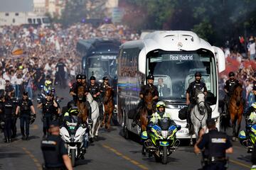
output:
POLYGON ((88 57, 87 60, 87 76, 92 75, 97 80, 102 79, 105 76, 111 79, 117 78, 117 56, 116 55, 94 55, 88 57))

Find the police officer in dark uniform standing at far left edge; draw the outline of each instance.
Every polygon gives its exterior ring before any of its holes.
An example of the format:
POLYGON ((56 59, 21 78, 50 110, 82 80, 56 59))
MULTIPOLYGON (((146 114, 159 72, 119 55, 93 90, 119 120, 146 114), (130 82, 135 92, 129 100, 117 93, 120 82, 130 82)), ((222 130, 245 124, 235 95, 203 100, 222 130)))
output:
POLYGON ((5 142, 11 142, 11 125, 14 111, 14 103, 10 96, 4 96, 4 103, 1 107, 2 113, 4 113, 4 137, 5 142))

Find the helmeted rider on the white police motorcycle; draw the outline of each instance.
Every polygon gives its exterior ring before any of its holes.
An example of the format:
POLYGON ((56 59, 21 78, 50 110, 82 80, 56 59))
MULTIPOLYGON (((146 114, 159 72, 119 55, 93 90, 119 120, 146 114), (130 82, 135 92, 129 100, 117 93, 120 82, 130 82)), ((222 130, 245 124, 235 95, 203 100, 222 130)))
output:
MULTIPOLYGON (((67 105, 68 111, 64 113, 64 118, 63 118, 63 126, 65 126, 65 124, 67 122, 69 123, 73 123, 73 122, 77 122, 78 125, 82 124, 82 119, 80 117, 78 117, 79 114, 79 110, 78 107, 75 106, 74 101, 69 101, 68 105, 67 105)), ((84 127, 87 127, 87 125, 82 124, 84 127)), ((88 128, 87 128, 88 130, 88 128)), ((86 132, 88 135, 88 132, 86 132)), ((87 136, 85 135, 84 137, 84 142, 83 142, 83 146, 82 146, 82 153, 85 154, 86 152, 86 148, 87 148, 87 136)))

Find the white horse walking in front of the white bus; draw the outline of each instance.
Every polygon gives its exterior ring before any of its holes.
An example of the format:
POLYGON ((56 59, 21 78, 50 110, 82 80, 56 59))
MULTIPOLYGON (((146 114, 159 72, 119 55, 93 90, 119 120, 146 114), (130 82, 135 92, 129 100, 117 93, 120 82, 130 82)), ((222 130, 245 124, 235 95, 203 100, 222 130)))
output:
POLYGON ((202 91, 196 91, 196 106, 191 109, 191 145, 193 145, 192 135, 196 135, 196 140, 198 140, 198 132, 203 128, 206 129, 206 120, 208 118, 208 113, 205 105, 205 94, 202 91))

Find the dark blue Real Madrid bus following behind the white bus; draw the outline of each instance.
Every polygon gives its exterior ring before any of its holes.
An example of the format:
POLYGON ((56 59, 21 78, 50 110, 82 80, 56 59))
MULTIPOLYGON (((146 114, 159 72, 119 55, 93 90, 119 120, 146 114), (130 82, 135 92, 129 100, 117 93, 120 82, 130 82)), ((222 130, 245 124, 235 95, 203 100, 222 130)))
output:
POLYGON ((78 55, 82 57, 82 74, 87 79, 96 77, 102 83, 107 76, 114 89, 114 103, 117 95, 117 55, 121 42, 110 38, 91 38, 79 40, 76 46, 78 55))

